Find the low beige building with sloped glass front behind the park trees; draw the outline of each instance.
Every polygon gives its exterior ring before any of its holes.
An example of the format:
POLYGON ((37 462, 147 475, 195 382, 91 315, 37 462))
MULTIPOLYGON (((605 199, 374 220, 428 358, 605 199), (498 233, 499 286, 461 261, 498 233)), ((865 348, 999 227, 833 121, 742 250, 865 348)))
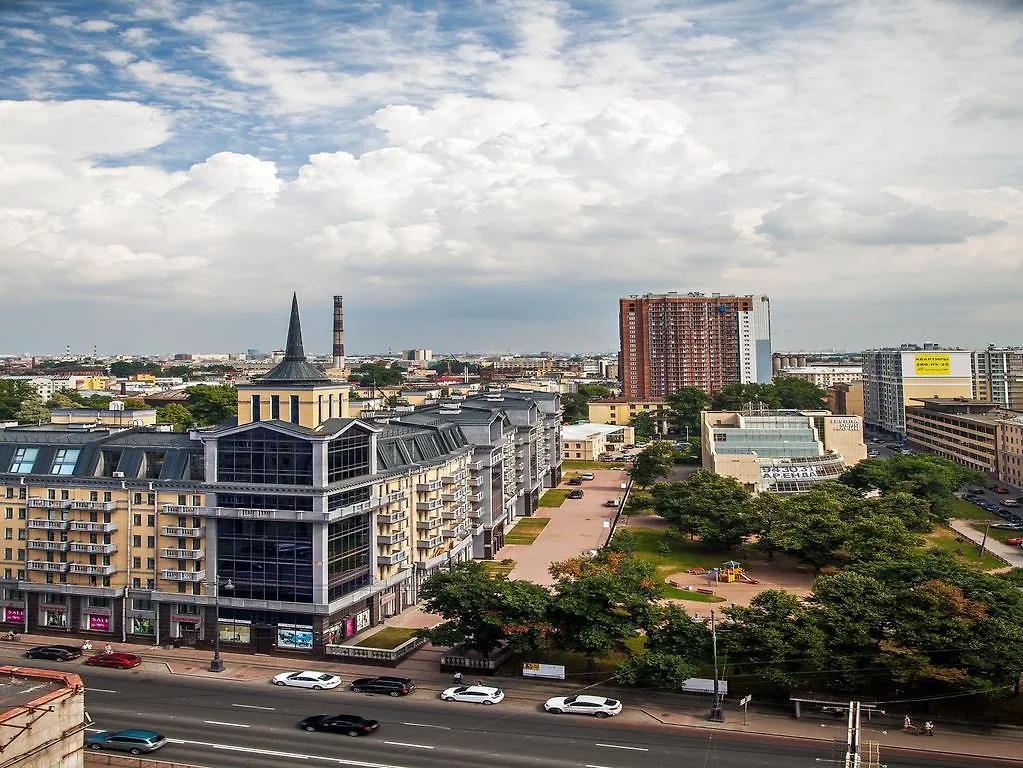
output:
POLYGON ((799 493, 866 458, 858 416, 828 411, 704 411, 703 466, 754 493, 799 493))

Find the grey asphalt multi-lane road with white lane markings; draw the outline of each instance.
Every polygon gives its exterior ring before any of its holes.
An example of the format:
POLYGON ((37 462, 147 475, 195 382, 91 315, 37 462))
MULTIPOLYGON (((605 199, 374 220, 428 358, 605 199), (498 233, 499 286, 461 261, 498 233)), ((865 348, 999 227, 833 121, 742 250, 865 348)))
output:
MULTIPOLYGON (((630 718, 628 712, 595 720, 548 715, 538 704, 521 702, 447 704, 425 690, 391 698, 172 676, 155 665, 131 671, 32 665, 82 675, 93 730, 152 728, 171 739, 162 759, 210 768, 800 768, 841 757, 828 742, 670 728, 630 718), (381 727, 357 738, 296 727, 308 715, 341 712, 376 719, 381 727)), ((884 762, 890 768, 972 764, 933 755, 884 762)))

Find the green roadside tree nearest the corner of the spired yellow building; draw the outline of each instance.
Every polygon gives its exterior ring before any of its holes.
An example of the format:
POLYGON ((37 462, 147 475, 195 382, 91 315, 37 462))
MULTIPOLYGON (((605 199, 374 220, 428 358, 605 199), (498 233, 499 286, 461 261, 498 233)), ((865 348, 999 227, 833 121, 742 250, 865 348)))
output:
POLYGON ((507 642, 534 648, 544 629, 550 594, 525 581, 491 574, 480 560, 439 571, 422 584, 427 613, 444 617, 419 633, 436 645, 461 645, 488 654, 507 642))

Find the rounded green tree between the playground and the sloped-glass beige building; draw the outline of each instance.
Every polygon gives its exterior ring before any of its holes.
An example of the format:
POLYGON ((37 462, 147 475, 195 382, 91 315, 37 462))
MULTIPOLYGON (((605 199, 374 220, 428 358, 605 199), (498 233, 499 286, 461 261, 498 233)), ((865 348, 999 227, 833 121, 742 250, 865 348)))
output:
POLYGON ((711 549, 731 549, 756 530, 752 496, 733 478, 698 469, 658 485, 653 498, 654 511, 711 549))

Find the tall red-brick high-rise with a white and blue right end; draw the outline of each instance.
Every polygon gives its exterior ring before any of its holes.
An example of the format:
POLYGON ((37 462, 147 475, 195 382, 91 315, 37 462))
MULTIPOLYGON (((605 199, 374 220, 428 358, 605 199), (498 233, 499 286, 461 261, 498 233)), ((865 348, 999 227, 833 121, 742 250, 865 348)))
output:
POLYGON ((715 393, 771 378, 765 296, 648 293, 619 300, 620 375, 626 400, 683 387, 715 393))

